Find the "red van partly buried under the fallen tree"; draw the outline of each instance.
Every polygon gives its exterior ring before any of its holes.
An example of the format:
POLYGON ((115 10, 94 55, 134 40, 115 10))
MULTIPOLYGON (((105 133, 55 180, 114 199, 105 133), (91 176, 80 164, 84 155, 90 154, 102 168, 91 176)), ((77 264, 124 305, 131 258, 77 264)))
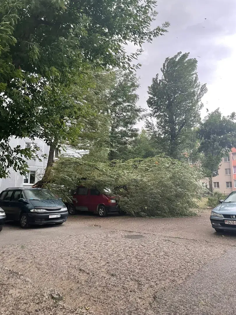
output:
MULTIPOLYGON (((108 189, 107 192, 110 190, 108 189)), ((96 212, 100 217, 105 217, 111 212, 123 214, 115 198, 99 192, 96 188, 88 189, 80 186, 73 193, 73 197, 73 204, 67 206, 70 215, 76 214, 77 211, 96 212)))

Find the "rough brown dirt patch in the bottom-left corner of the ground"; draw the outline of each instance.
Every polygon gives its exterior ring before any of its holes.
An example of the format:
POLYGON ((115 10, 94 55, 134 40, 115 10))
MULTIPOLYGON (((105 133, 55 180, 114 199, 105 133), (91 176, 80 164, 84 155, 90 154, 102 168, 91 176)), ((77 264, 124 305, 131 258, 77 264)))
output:
POLYGON ((85 315, 90 310, 66 305, 59 292, 35 285, 18 272, 0 266, 1 315, 85 315))

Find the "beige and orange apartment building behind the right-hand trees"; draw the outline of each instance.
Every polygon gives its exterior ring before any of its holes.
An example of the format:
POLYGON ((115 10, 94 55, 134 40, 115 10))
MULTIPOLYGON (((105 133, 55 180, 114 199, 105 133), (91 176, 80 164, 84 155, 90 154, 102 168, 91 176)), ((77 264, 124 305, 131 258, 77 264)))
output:
MULTIPOLYGON (((236 148, 232 148, 228 156, 222 159, 219 175, 212 178, 213 190, 224 194, 236 191, 236 148)), ((209 183, 206 183, 209 187, 209 183)))

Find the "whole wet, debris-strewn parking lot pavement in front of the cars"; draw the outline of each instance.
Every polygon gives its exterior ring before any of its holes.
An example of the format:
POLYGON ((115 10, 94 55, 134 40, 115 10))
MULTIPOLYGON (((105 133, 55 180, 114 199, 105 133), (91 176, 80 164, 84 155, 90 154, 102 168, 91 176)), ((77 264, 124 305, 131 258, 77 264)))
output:
POLYGON ((209 215, 6 224, 0 314, 236 314, 236 234, 217 234, 209 215))

